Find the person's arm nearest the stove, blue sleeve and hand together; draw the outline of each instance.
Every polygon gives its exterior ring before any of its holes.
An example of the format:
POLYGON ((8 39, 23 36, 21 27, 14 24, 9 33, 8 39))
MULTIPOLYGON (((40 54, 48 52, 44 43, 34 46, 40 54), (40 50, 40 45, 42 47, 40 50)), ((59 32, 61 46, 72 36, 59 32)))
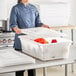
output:
POLYGON ((21 34, 21 30, 18 28, 18 24, 17 24, 17 10, 15 7, 13 7, 11 10, 10 27, 14 32, 16 32, 16 34, 21 34))

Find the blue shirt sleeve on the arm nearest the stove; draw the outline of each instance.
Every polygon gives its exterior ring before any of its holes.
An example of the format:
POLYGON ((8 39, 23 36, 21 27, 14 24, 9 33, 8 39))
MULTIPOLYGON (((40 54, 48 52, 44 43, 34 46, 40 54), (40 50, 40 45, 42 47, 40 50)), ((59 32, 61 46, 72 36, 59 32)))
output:
POLYGON ((10 14, 10 27, 13 29, 15 26, 17 26, 17 11, 16 8, 13 7, 10 14))

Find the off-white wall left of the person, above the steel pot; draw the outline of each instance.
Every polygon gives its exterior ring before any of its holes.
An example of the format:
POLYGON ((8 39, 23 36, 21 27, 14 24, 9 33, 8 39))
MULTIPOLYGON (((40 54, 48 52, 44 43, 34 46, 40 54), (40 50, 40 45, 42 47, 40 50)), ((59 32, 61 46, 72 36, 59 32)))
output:
POLYGON ((0 20, 7 20, 10 14, 11 7, 15 4, 16 4, 16 0, 0 1, 0 20))

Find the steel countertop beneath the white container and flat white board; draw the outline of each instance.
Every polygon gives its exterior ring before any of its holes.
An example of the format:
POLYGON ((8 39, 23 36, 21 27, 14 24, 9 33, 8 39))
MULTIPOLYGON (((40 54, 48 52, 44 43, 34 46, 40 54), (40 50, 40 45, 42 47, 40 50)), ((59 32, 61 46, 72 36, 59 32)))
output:
MULTIPOLYGON (((24 65, 17 65, 17 66, 9 66, 0 68, 0 73, 6 73, 6 72, 14 72, 14 71, 20 71, 20 70, 28 70, 28 69, 35 69, 35 68, 43 68, 43 67, 53 67, 58 65, 66 65, 76 62, 76 47, 70 48, 70 55, 68 59, 63 60, 53 60, 53 61, 39 61, 36 60, 36 63, 34 64, 24 64, 24 65)), ((67 76, 67 75, 66 75, 67 76)))

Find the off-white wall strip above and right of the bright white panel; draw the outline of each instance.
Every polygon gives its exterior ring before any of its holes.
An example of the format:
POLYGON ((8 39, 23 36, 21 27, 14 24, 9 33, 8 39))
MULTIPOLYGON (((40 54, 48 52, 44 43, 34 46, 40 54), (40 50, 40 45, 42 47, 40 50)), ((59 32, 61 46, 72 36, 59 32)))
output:
POLYGON ((51 3, 51 2, 69 2, 71 7, 71 16, 69 24, 76 25, 76 0, 29 0, 33 4, 51 3))

